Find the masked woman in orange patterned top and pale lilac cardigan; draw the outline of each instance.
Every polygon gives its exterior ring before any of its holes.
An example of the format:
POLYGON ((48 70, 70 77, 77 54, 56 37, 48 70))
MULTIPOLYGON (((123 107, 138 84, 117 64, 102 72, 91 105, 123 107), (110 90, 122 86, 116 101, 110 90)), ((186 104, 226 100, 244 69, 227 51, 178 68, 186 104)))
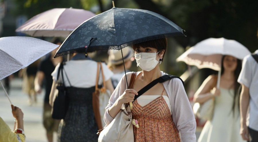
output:
MULTIPOLYGON (((112 122, 122 104, 133 102, 132 119, 138 120, 139 125, 137 128, 133 127, 134 141, 195 142, 196 120, 179 78, 157 83, 134 101, 139 90, 165 75, 159 65, 165 57, 167 39, 134 44, 133 49, 137 66, 142 71, 136 73, 132 89, 127 89, 125 75, 120 80, 106 107, 106 125, 112 122)), ((130 79, 132 72, 126 73, 126 76, 130 79)))

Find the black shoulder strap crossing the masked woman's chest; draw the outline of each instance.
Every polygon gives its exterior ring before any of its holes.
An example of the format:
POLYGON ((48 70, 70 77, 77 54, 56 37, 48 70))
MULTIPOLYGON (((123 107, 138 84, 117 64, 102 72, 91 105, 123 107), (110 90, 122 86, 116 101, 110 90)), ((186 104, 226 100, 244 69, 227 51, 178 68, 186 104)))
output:
POLYGON ((143 87, 139 92, 138 92, 138 95, 134 96, 134 101, 140 97, 143 93, 145 93, 147 90, 149 90, 151 87, 153 87, 154 85, 156 85, 157 83, 163 83, 169 79, 172 79, 172 78, 179 78, 183 85, 184 85, 184 81, 178 77, 178 76, 175 76, 175 75, 169 75, 169 74, 165 74, 155 80, 153 80, 152 82, 150 82, 148 85, 146 85, 145 87, 143 87))

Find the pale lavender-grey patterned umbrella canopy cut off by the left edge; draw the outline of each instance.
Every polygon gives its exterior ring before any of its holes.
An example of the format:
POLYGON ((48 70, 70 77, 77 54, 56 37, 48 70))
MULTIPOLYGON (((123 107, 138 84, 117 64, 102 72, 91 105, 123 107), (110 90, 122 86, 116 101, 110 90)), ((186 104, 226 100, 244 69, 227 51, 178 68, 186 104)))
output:
POLYGON ((32 37, 0 38, 0 80, 27 67, 58 46, 32 37))

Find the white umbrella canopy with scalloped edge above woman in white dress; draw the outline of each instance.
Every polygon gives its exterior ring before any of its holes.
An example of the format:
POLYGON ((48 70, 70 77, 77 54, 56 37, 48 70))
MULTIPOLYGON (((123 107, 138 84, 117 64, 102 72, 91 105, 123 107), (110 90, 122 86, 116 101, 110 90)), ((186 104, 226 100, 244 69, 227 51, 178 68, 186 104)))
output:
POLYGON ((208 38, 189 48, 176 61, 195 65, 199 69, 210 68, 219 71, 223 55, 230 55, 242 60, 249 54, 251 52, 236 40, 208 38))

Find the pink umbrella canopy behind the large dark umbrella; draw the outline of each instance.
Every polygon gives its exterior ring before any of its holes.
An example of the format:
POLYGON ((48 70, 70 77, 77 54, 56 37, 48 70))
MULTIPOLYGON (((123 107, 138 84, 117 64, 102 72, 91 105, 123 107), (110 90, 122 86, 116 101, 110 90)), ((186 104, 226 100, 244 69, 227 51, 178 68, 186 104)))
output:
POLYGON ((84 9, 54 8, 32 17, 15 31, 30 36, 67 37, 93 16, 94 13, 84 9))

